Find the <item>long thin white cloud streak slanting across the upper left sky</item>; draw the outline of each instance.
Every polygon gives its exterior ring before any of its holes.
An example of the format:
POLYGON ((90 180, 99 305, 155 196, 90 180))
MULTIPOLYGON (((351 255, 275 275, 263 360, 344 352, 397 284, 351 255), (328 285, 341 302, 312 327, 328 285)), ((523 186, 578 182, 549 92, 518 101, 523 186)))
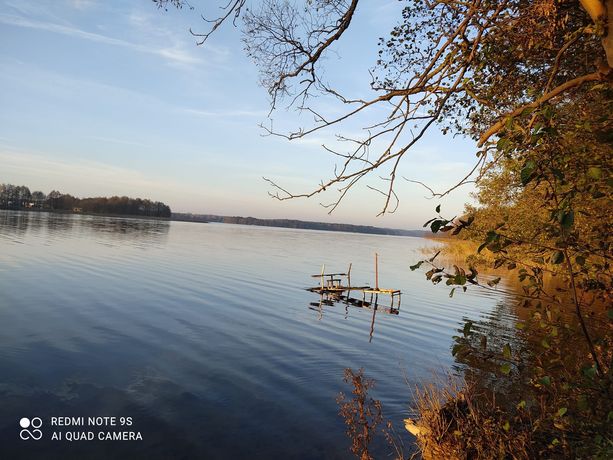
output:
POLYGON ((88 40, 95 43, 103 43, 111 46, 118 46, 132 51, 145 54, 157 55, 170 63, 193 65, 202 63, 202 59, 194 56, 188 50, 181 48, 178 44, 173 44, 172 47, 154 47, 145 46, 139 43, 133 43, 130 41, 122 40, 119 38, 109 37, 99 33, 88 32, 86 30, 79 29, 77 27, 58 24, 49 21, 38 21, 33 19, 27 19, 22 16, 11 14, 0 14, 0 23, 24 27, 29 29, 43 30, 46 32, 66 35, 73 38, 82 40, 88 40))

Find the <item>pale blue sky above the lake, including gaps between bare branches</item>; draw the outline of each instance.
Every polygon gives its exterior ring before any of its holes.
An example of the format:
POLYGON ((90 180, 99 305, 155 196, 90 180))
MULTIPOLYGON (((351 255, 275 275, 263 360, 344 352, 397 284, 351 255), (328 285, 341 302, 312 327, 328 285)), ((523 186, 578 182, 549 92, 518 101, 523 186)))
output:
MULTIPOLYGON (((396 213, 376 217, 381 196, 366 180, 331 216, 334 195, 278 202, 262 176, 293 192, 310 191, 333 171, 334 135, 357 122, 298 141, 263 136, 269 102, 239 31, 225 27, 198 47, 196 11, 158 10, 150 0, 0 0, 0 182, 76 196, 128 195, 174 211, 419 228, 438 201, 398 182, 396 213)), ((350 33, 326 61, 326 78, 368 96, 377 38, 395 24, 396 0, 365 1, 350 33)), ((343 107, 323 100, 329 114, 343 107)), ((380 113, 379 113, 380 115, 380 113)), ((373 113, 376 120, 377 113, 373 113)), ((273 113, 296 128, 295 111, 273 113)), ((368 120, 368 118, 367 118, 368 120)), ((405 157, 400 174, 435 189, 474 163, 471 142, 432 132, 405 157)), ((443 201, 460 212, 464 187, 443 201)))

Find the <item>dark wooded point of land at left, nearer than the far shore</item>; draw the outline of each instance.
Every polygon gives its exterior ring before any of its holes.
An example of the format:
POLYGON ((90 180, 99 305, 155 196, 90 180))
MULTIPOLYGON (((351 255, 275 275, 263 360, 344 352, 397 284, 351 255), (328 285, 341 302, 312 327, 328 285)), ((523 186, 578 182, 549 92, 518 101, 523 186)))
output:
POLYGON ((38 209, 48 211, 122 214, 170 217, 170 207, 160 201, 127 196, 77 198, 52 190, 30 192, 25 185, 0 184, 0 209, 38 209))

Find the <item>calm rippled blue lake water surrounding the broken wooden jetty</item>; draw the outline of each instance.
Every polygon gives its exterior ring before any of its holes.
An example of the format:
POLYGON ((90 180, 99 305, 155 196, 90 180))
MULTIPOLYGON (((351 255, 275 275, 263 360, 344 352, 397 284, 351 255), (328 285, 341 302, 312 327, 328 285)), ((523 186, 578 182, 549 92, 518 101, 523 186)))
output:
POLYGON ((352 458, 335 402, 350 390, 344 368, 376 378, 373 396, 400 429, 410 387, 454 366, 463 318, 514 320, 495 294, 449 299, 411 272, 424 246, 0 211, 0 457, 352 458), (373 284, 375 251, 381 287, 403 297, 399 315, 377 314, 371 339, 371 310, 313 307, 304 288, 322 264, 349 262, 352 284, 373 284), (50 417, 97 415, 132 417, 143 441, 50 439, 50 417), (18 420, 35 416, 43 439, 20 440, 18 420))

